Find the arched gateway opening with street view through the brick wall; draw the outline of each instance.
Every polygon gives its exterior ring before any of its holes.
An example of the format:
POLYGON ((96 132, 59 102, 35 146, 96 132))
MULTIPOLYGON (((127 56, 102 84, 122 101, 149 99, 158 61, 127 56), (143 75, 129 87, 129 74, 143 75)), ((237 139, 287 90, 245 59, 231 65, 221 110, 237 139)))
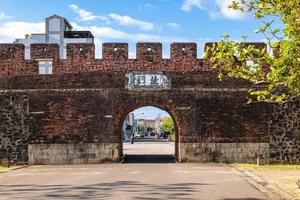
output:
POLYGON ((127 113, 121 138, 123 162, 177 161, 177 125, 171 114, 159 107, 144 106, 127 113))

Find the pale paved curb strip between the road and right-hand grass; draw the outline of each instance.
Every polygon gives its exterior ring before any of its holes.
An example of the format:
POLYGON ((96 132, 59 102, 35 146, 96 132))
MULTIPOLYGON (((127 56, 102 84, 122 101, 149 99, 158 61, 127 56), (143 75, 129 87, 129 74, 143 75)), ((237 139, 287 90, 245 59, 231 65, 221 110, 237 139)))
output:
POLYGON ((272 200, 293 200, 287 193, 285 193, 277 185, 271 184, 262 177, 243 169, 236 164, 231 165, 234 168, 235 173, 240 175, 243 179, 249 182, 256 189, 266 194, 272 200))

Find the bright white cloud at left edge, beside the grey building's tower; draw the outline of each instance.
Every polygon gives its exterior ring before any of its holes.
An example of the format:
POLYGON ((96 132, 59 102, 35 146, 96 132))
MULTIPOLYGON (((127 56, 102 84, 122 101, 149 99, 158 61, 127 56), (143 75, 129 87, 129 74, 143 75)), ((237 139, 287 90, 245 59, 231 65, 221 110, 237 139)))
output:
POLYGON ((10 21, 0 24, 0 42, 11 43, 17 38, 24 38, 28 33, 44 33, 44 22, 10 21))

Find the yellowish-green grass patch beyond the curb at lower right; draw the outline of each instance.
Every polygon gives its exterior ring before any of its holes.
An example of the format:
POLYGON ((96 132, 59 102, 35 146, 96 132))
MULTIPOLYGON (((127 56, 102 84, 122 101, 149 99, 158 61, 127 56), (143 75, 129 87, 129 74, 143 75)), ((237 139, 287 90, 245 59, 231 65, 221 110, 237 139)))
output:
POLYGON ((300 165, 261 165, 238 164, 272 184, 278 185, 294 199, 300 199, 300 189, 296 184, 300 178, 300 165))

